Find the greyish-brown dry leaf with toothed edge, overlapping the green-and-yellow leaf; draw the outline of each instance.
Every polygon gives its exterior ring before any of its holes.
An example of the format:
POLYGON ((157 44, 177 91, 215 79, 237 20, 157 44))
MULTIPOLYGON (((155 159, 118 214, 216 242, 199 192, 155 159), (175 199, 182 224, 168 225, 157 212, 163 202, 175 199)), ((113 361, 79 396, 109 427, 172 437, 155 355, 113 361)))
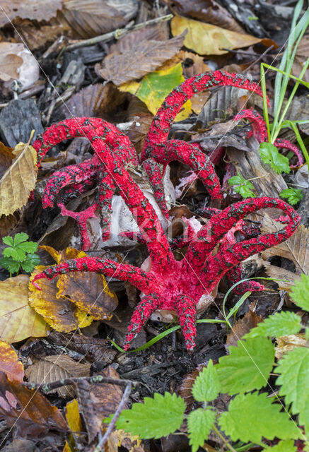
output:
POLYGON ((107 55, 101 65, 95 65, 95 72, 118 86, 136 80, 153 72, 158 66, 174 57, 182 47, 183 39, 184 36, 179 35, 168 41, 136 42, 122 53, 114 52, 107 55))

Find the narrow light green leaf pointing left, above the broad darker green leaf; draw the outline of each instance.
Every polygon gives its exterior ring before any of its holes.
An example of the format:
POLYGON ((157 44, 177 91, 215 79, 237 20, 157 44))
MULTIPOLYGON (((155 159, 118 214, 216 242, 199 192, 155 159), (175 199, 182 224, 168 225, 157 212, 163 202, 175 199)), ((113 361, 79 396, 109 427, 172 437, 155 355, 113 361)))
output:
POLYGON ((264 322, 260 322, 250 333, 243 336, 243 339, 257 338, 264 336, 269 338, 279 338, 279 336, 296 334, 301 331, 301 317, 291 311, 276 312, 264 322))

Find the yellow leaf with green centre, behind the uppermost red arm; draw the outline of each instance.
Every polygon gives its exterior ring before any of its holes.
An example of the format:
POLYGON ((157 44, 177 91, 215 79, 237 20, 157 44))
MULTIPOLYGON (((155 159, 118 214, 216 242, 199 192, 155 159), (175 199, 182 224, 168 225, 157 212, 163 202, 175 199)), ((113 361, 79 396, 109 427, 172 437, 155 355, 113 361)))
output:
MULTIPOLYGON (((147 105, 151 113, 156 114, 165 97, 183 81, 185 78, 182 75, 182 64, 178 63, 170 67, 168 62, 167 67, 164 65, 161 66, 161 69, 148 73, 140 83, 123 83, 119 86, 119 90, 136 95, 147 105)), ((186 119, 190 113, 191 102, 188 100, 182 111, 177 114, 175 121, 186 119)))

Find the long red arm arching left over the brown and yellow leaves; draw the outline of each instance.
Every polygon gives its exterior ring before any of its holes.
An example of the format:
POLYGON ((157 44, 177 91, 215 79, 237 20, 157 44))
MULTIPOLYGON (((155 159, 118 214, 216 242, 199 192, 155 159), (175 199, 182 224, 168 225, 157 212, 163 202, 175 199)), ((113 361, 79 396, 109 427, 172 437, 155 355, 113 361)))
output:
POLYGON ((32 283, 37 289, 40 289, 40 286, 35 283, 35 281, 40 280, 41 278, 52 280, 52 278, 55 278, 56 276, 75 271, 103 273, 103 275, 110 276, 110 278, 129 281, 129 283, 144 293, 151 293, 157 289, 156 282, 138 267, 130 266, 127 263, 117 263, 110 259, 89 256, 69 259, 69 261, 60 263, 57 266, 49 267, 35 275, 32 283))

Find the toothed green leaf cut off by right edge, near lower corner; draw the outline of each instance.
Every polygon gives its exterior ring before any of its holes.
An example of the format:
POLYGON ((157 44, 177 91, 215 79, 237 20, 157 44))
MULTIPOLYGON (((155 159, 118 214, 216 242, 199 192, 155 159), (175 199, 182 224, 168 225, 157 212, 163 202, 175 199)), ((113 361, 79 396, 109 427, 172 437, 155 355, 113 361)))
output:
POLYGON ((293 415, 299 413, 298 424, 309 431, 309 349, 298 347, 286 353, 276 367, 280 376, 276 384, 281 386, 279 394, 285 396, 285 403, 291 403, 293 415))

